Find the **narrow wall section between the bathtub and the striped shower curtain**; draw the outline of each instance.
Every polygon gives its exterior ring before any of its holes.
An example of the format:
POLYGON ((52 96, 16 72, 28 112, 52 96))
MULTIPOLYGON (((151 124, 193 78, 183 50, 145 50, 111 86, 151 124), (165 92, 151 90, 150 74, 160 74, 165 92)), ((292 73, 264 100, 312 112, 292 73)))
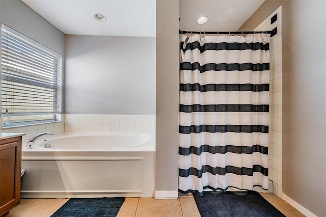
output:
POLYGON ((156 191, 178 190, 179 2, 156 0, 156 191))

